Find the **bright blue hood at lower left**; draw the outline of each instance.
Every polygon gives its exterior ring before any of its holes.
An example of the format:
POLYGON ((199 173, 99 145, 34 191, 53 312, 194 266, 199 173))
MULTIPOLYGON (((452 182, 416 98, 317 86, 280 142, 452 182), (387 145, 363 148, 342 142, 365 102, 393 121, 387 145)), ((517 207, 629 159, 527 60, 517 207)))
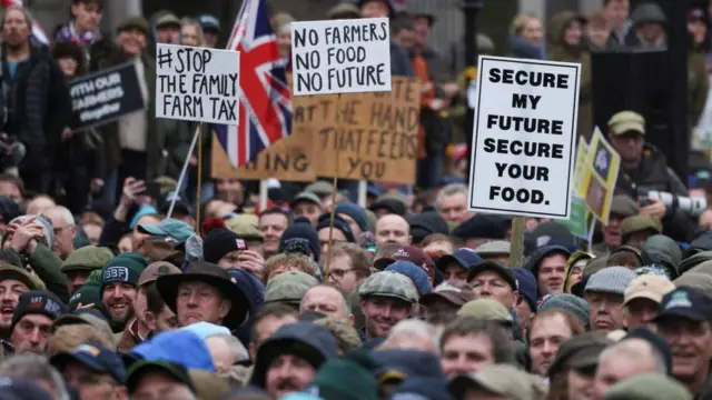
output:
POLYGON ((168 361, 185 366, 187 369, 215 372, 212 358, 205 341, 189 330, 159 333, 151 340, 135 347, 129 357, 149 361, 168 361))

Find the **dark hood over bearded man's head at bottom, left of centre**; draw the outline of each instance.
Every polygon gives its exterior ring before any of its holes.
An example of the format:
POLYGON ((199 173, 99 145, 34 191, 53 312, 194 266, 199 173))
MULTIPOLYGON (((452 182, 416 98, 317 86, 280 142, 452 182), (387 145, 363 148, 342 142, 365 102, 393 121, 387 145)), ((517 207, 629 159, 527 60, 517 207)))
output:
POLYGON ((295 354, 309 362, 314 369, 337 357, 334 336, 310 322, 290 323, 279 328, 257 350, 255 370, 250 383, 264 388, 267 369, 281 354, 295 354))

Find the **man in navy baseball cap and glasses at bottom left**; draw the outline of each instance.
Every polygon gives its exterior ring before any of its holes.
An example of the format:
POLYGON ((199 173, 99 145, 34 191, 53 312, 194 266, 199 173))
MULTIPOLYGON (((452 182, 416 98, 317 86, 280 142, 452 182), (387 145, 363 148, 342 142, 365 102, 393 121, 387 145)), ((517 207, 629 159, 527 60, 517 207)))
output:
POLYGON ((98 343, 85 343, 50 359, 82 400, 128 399, 121 358, 98 343))

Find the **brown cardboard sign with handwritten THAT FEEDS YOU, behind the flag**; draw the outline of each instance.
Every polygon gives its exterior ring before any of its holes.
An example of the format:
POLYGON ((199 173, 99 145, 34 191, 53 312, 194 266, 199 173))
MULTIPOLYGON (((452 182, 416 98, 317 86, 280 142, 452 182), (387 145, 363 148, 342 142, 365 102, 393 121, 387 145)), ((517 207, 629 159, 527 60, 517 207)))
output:
POLYGON ((337 94, 294 98, 288 138, 240 169, 233 169, 225 151, 214 143, 212 177, 314 181, 317 176, 336 174, 344 179, 413 183, 419 101, 418 81, 405 77, 394 77, 393 91, 388 93, 349 94, 340 100, 337 94))

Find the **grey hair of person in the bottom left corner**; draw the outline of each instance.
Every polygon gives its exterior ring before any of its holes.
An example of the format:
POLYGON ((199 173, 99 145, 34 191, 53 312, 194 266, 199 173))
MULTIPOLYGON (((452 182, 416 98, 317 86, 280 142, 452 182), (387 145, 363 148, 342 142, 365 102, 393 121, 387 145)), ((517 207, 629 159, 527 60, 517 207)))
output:
POLYGON ((12 356, 0 363, 0 377, 27 378, 47 382, 59 400, 69 400, 65 379, 46 357, 34 353, 12 356))

